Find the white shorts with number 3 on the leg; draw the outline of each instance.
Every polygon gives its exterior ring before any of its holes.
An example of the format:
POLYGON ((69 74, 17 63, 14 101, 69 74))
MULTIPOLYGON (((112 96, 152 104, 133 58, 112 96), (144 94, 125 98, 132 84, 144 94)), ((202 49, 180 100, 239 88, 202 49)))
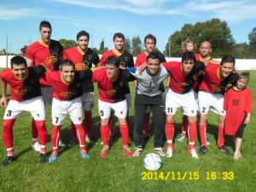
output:
POLYGON ((24 102, 10 100, 3 119, 16 119, 22 115, 24 111, 30 112, 35 120, 45 119, 43 96, 37 96, 24 102))

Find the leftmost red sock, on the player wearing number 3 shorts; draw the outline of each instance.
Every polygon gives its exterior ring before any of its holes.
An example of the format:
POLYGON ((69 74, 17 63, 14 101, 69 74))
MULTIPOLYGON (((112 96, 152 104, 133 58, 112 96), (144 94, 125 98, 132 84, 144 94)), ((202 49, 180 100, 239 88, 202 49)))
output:
MULTIPOLYGON (((3 142, 7 151, 14 151, 14 132, 13 127, 16 119, 3 119, 3 142)), ((13 155, 11 155, 13 156, 13 155)))

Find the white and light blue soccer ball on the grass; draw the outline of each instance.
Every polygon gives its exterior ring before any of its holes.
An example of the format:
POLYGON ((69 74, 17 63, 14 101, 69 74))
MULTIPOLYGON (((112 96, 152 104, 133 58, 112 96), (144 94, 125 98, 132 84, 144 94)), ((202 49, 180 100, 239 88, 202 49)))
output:
POLYGON ((143 165, 148 171, 157 171, 162 166, 162 160, 158 154, 147 154, 143 160, 143 165))

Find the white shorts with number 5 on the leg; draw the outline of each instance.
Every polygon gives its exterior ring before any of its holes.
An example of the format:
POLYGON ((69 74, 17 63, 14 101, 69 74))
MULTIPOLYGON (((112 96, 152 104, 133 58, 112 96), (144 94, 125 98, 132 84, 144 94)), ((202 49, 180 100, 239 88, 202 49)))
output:
POLYGON ((99 113, 101 119, 108 119, 110 117, 111 109, 114 111, 114 115, 118 118, 125 118, 127 115, 127 102, 102 102, 98 100, 99 113))

